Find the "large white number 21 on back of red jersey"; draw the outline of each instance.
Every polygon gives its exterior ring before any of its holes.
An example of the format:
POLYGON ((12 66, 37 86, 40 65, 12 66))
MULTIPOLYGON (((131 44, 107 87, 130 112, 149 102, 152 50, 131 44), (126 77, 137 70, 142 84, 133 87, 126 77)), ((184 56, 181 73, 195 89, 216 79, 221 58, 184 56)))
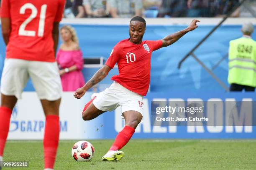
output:
MULTIPOLYGON (((39 24, 38 32, 37 32, 38 37, 43 37, 44 35, 44 21, 46 16, 46 8, 47 8, 46 4, 41 6, 40 19, 38 23, 39 24)), ((31 15, 20 25, 19 35, 34 37, 36 36, 36 31, 25 30, 25 28, 28 25, 28 23, 30 23, 34 18, 36 18, 37 9, 33 4, 26 3, 22 7, 20 7, 20 14, 25 14, 26 9, 31 10, 31 15)))

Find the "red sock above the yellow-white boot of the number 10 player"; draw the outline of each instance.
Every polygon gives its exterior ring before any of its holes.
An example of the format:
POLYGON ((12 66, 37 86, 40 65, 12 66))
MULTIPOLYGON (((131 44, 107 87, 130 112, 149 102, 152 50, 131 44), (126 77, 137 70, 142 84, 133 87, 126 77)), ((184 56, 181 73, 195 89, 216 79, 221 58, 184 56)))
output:
POLYGON ((132 128, 131 126, 125 126, 123 130, 118 133, 115 138, 115 142, 109 150, 120 150, 121 148, 123 148, 129 142, 134 132, 134 128, 132 128))

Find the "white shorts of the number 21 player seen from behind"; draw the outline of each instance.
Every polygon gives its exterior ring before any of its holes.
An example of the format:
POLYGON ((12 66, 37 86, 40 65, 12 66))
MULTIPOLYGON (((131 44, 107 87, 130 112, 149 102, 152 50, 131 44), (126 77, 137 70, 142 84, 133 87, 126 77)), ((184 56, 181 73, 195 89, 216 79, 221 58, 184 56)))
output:
POLYGON ((62 86, 56 62, 5 59, 1 78, 1 93, 15 95, 21 99, 21 93, 31 77, 38 97, 41 100, 58 100, 62 86))

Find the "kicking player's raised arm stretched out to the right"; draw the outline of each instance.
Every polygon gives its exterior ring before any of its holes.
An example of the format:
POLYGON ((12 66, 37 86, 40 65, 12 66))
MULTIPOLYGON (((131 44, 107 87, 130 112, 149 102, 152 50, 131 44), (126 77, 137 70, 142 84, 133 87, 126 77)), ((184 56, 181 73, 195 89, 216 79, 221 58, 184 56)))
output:
POLYGON ((198 27, 197 22, 200 22, 200 21, 192 20, 192 22, 189 24, 189 26, 187 28, 185 28, 184 30, 175 32, 174 34, 170 34, 170 35, 167 35, 166 37, 164 37, 162 39, 162 42, 163 42, 162 47, 167 47, 167 46, 173 44, 174 42, 179 40, 179 38, 181 38, 183 35, 185 35, 187 32, 195 30, 198 27))

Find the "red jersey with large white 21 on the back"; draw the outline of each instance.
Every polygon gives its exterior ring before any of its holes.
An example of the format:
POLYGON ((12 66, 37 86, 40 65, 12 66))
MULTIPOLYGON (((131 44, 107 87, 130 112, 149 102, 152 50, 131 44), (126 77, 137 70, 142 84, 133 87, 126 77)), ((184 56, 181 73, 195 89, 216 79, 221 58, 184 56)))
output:
POLYGON ((54 22, 60 22, 65 0, 2 0, 1 18, 10 18, 6 58, 54 62, 54 22))

